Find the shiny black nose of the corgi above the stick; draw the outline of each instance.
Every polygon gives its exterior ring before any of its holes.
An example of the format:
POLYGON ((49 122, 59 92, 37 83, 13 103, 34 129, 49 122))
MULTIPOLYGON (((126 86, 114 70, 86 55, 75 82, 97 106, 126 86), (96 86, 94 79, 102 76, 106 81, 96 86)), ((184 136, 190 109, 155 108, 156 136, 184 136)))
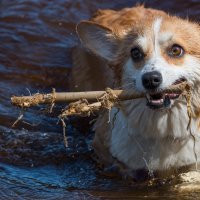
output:
POLYGON ((153 90, 162 83, 162 75, 158 71, 147 72, 142 76, 142 84, 145 89, 153 90))

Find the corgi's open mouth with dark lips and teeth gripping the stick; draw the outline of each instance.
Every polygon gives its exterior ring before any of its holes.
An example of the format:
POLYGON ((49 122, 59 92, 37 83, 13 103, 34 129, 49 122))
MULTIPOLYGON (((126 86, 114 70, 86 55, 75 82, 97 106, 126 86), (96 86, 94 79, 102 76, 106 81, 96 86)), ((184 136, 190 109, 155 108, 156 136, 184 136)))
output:
MULTIPOLYGON (((172 85, 185 82, 185 78, 178 79, 172 85)), ((181 92, 150 92, 146 94, 147 106, 151 109, 169 108, 172 100, 176 100, 181 96, 181 92)))

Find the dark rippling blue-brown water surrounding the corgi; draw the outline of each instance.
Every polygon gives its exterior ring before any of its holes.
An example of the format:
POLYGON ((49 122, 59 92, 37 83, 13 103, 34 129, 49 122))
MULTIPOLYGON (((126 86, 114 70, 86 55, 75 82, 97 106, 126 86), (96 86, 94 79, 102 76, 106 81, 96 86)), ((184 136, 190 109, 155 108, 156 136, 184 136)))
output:
MULTIPOLYGON (((102 175, 92 161, 92 133, 84 119, 67 126, 63 145, 56 115, 29 109, 15 128, 20 110, 13 94, 67 91, 71 50, 78 44, 75 25, 97 9, 120 9, 131 0, 0 1, 0 199, 196 199, 167 186, 137 185, 102 175)), ((143 1, 144 2, 144 1, 143 1)), ((199 21, 199 0, 146 1, 147 6, 199 21)))

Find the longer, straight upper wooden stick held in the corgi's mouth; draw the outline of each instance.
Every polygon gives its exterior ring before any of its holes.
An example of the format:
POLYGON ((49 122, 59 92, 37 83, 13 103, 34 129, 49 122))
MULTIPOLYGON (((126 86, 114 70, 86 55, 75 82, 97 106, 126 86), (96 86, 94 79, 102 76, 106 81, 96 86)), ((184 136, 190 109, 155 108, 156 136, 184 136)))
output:
MULTIPOLYGON (((164 90, 167 92, 182 93, 186 87, 187 83, 181 83, 177 85, 172 85, 170 88, 164 90)), ((111 90, 111 89, 110 89, 111 90)), ((111 90, 112 94, 115 95, 119 100, 130 100, 137 98, 144 98, 144 93, 137 93, 133 90, 111 90)), ((53 103, 62 103, 62 102, 74 102, 80 99, 86 99, 89 102, 95 102, 107 91, 90 91, 90 92, 60 92, 57 93, 53 90, 49 94, 34 94, 33 96, 13 96, 11 98, 11 103, 14 106, 20 108, 29 108, 31 106, 37 106, 39 104, 53 104, 53 103)))

